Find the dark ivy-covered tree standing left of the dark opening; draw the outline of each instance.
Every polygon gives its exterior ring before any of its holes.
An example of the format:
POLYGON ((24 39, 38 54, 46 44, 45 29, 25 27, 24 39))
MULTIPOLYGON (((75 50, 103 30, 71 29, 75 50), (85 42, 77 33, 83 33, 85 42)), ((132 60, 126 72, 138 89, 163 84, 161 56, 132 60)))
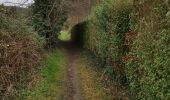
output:
POLYGON ((33 26, 46 39, 46 46, 56 45, 57 37, 67 19, 63 0, 35 0, 33 26))

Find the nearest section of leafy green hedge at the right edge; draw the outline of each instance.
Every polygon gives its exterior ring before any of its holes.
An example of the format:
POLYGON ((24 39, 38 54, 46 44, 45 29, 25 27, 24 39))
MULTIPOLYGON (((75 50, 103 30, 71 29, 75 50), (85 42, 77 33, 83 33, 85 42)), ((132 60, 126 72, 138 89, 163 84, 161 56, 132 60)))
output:
POLYGON ((129 86, 136 99, 170 99, 170 6, 164 0, 136 2, 131 25, 138 32, 126 63, 129 86), (136 20, 136 21, 135 21, 136 20))

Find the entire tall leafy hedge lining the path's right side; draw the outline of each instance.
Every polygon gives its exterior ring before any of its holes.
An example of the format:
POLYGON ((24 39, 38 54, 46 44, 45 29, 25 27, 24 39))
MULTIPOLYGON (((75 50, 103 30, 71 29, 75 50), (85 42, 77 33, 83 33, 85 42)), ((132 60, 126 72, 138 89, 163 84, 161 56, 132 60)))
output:
POLYGON ((80 26, 85 47, 133 100, 170 99, 169 10, 168 0, 106 0, 80 26))

